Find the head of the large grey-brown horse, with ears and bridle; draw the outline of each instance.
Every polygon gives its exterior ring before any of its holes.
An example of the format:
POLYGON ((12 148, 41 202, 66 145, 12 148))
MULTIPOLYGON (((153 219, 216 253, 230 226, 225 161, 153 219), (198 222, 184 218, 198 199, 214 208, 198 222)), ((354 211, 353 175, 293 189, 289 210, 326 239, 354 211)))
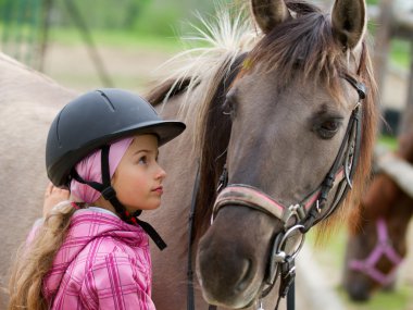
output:
POLYGON ((374 136, 364 0, 337 0, 331 14, 252 0, 252 12, 264 36, 222 107, 231 120, 228 185, 197 253, 204 298, 235 309, 260 298, 272 263, 292 253, 279 236, 293 227, 300 237, 331 214, 351 178, 360 188, 374 136))

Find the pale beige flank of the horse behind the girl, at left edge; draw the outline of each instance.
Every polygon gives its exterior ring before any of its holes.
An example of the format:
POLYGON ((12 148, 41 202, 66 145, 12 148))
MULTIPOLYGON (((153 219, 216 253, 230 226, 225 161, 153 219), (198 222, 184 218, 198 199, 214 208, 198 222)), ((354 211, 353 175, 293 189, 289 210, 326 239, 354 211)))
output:
POLYGON ((49 77, 0 53, 0 309, 8 300, 13 253, 41 218, 47 185, 45 149, 48 128, 76 96, 49 77))

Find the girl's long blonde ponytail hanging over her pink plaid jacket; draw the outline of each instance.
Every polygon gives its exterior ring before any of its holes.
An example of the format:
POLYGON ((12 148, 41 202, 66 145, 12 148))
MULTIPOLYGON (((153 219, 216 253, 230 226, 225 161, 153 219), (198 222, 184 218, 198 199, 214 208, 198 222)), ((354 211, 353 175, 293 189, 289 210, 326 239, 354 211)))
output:
POLYGON ((70 201, 57 204, 45 223, 38 226, 33 240, 20 247, 11 270, 9 310, 49 309, 42 294, 42 281, 64 240, 75 211, 70 201))

